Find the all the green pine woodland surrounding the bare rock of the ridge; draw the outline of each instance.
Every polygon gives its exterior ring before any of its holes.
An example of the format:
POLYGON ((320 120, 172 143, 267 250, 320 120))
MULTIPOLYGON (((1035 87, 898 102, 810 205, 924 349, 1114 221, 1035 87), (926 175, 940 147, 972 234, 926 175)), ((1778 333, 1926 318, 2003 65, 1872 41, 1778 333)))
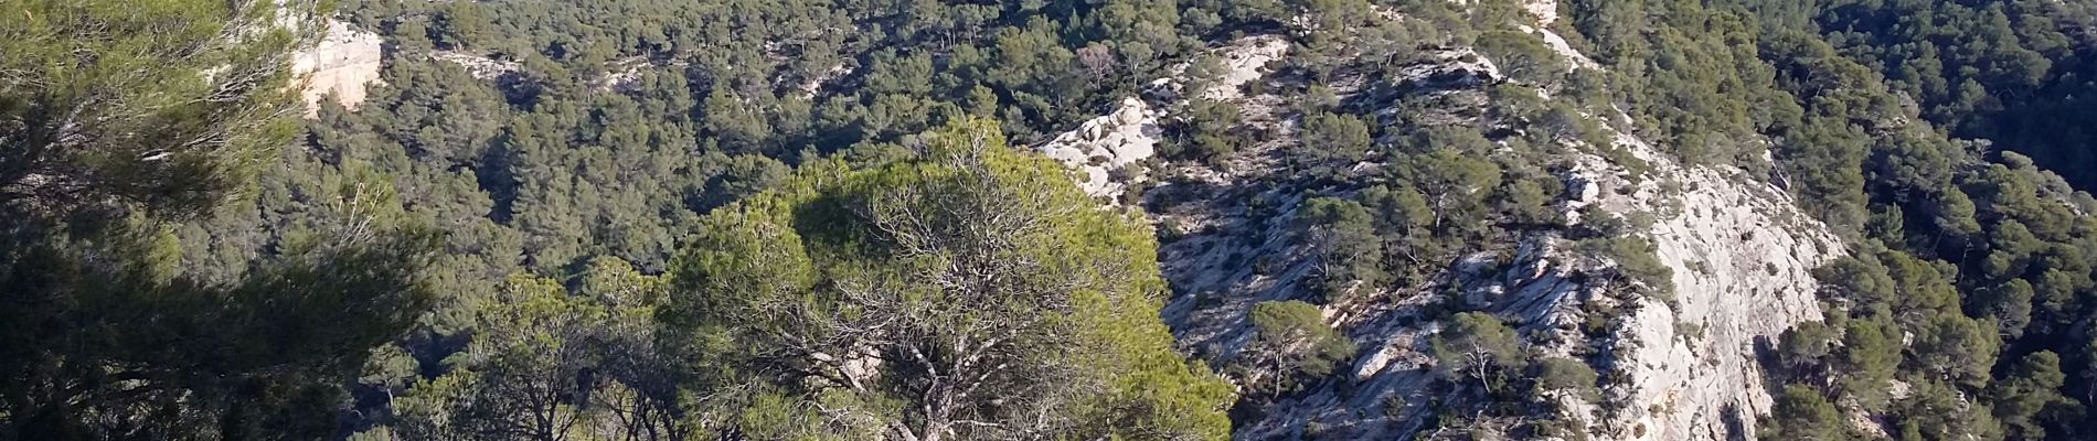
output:
MULTIPOLYGON (((1829 316, 1776 343, 1766 439, 2097 437, 2097 182, 2047 171, 2097 165, 2097 6, 1558 10, 1606 69, 1512 0, 0 2, 0 441, 1225 439, 1344 387, 1319 305, 1522 232, 1667 297, 1650 217, 1548 209, 1571 148, 1638 163, 1610 132, 1776 182, 1852 245, 1829 316), (271 4, 382 33, 384 86, 298 119, 315 36, 254 31, 271 4), (1145 201, 1095 209, 1023 150, 1212 82, 1206 48, 1252 33, 1292 42, 1248 88, 1300 134, 1250 199, 1302 201, 1315 288, 1214 357, 1158 318, 1145 201), (1449 48, 1508 79, 1411 94, 1449 48)), ((1229 100, 1168 113, 1166 161, 1273 136, 1229 100)), ((1434 424, 1613 380, 1443 316, 1439 387, 1493 403, 1434 424)))

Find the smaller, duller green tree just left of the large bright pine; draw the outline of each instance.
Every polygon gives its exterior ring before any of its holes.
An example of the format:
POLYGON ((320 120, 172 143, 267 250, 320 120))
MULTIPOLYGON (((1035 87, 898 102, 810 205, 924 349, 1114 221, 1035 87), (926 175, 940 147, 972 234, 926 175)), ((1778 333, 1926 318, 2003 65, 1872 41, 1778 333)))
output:
POLYGON ((671 364, 656 351, 665 280, 596 259, 575 295, 512 276, 476 311, 478 332, 445 374, 392 403, 411 439, 619 439, 679 433, 671 364))

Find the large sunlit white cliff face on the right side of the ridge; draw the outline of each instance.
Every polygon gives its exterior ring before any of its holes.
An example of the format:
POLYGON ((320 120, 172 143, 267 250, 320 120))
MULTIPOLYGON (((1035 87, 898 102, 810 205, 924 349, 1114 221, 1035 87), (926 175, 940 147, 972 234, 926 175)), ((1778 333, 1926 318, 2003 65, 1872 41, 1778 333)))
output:
POLYGON ((1629 186, 1623 176, 1596 173, 1600 167, 1579 173, 1610 186, 1598 192, 1604 209, 1655 213, 1648 236, 1673 270, 1676 307, 1642 299, 1615 336, 1636 341, 1615 370, 1631 378, 1627 401, 1646 408, 1610 420, 1629 431, 1604 439, 1755 439, 1755 418, 1770 412, 1757 351, 1820 320, 1812 270, 1839 257, 1843 245, 1776 186, 1730 167, 1676 165, 1631 136, 1619 144, 1652 165, 1650 180, 1629 186))

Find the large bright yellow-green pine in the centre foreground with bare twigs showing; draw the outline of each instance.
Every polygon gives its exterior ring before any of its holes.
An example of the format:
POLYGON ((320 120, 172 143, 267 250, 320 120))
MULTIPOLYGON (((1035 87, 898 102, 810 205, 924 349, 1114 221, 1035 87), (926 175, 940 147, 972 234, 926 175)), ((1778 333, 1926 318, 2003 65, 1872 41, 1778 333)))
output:
POLYGON ((1229 387, 1170 349, 1155 242, 1134 215, 1007 148, 990 119, 925 134, 916 150, 879 169, 818 159, 702 222, 671 265, 665 318, 700 364, 700 395, 768 414, 705 426, 765 439, 812 433, 755 422, 912 441, 1229 435, 1229 387))

